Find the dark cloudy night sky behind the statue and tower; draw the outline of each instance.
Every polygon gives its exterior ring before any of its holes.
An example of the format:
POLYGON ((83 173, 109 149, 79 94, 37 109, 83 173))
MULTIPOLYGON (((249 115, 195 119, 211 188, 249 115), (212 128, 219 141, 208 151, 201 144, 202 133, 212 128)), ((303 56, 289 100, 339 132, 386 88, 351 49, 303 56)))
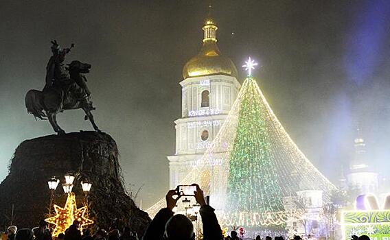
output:
MULTIPOLYGON (((181 70, 200 49, 207 1, 0 1, 0 180, 25 139, 52 134, 24 106, 41 89, 50 40, 75 43, 67 61, 92 64, 100 128, 117 141, 126 184, 150 206, 167 191, 181 70)), ((390 160, 390 1, 214 1, 218 45, 255 77, 301 150, 336 181, 360 122, 370 160, 390 160), (233 35, 231 33, 234 33, 233 35)), ((58 121, 91 130, 82 110, 58 121)), ((382 170, 382 173, 386 173, 382 170)), ((140 199, 140 198, 139 198, 140 199)))

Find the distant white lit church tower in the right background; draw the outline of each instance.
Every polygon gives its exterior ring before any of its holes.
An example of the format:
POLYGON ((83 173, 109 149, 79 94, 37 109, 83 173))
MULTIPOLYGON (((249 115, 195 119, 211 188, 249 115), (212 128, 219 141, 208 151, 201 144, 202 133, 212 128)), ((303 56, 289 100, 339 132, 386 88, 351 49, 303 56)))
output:
POLYGON ((349 174, 347 175, 348 186, 356 189, 359 194, 377 193, 378 173, 368 164, 365 141, 359 129, 354 146, 355 156, 349 165, 349 174))

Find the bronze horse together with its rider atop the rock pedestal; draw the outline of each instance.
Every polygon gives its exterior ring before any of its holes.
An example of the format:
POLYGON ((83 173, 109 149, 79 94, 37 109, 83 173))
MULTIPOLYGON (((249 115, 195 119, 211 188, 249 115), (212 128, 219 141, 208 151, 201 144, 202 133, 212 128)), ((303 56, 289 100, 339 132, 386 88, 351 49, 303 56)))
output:
POLYGON ((84 119, 89 119, 93 129, 100 132, 91 113, 91 110, 95 110, 95 108, 90 100, 91 92, 84 75, 84 73, 89 73, 91 64, 72 61, 65 67, 65 56, 74 45, 61 49, 56 40, 51 41, 51 44, 53 56, 47 63, 45 87, 43 91, 32 89, 27 92, 25 96, 27 112, 34 115, 35 119, 48 119, 57 134, 65 134, 65 131, 57 123, 57 113, 63 112, 63 110, 82 108, 85 112, 84 119))

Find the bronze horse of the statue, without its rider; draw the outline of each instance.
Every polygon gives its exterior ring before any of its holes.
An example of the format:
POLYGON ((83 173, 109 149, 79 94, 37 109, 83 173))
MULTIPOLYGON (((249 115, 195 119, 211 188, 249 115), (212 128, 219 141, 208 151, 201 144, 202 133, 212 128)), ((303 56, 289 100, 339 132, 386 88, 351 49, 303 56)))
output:
POLYGON ((95 110, 92 101, 84 89, 76 83, 87 80, 82 73, 89 73, 91 64, 73 61, 68 64, 67 69, 70 75, 69 80, 45 87, 43 91, 32 89, 27 92, 25 96, 27 112, 38 119, 49 119, 51 127, 57 134, 65 134, 65 131, 57 123, 57 113, 63 112, 63 110, 82 108, 86 115, 85 120, 89 119, 93 129, 100 132, 91 113, 91 110, 95 110))

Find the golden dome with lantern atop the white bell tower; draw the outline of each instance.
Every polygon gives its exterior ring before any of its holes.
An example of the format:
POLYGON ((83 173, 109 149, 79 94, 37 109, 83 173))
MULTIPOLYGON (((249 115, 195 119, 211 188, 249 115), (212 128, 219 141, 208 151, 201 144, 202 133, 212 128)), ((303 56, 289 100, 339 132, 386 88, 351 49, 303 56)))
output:
POLYGON ((183 77, 198 77, 204 75, 231 75, 237 77, 237 69, 233 62, 220 55, 217 46, 216 30, 218 27, 212 19, 205 21, 203 31, 203 46, 194 58, 191 58, 183 68, 183 77))

